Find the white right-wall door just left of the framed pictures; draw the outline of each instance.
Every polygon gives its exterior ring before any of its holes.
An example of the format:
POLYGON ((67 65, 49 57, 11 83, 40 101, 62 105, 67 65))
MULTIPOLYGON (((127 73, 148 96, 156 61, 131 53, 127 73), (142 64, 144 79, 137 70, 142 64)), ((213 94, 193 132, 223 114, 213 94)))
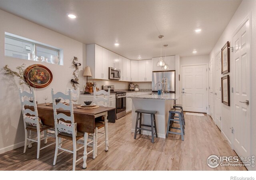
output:
POLYGON ((221 52, 215 57, 214 120, 221 130, 221 52))

